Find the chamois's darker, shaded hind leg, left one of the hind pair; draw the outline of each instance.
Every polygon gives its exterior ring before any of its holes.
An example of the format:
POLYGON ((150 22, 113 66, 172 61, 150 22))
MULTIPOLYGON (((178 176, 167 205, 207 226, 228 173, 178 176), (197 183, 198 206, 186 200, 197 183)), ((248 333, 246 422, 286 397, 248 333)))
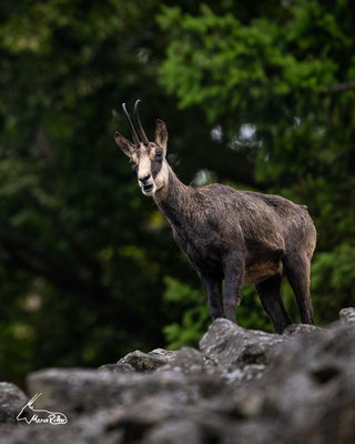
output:
POLYGON ((261 303, 274 325, 276 333, 282 333, 292 324, 287 310, 281 296, 281 275, 276 274, 255 286, 261 303))

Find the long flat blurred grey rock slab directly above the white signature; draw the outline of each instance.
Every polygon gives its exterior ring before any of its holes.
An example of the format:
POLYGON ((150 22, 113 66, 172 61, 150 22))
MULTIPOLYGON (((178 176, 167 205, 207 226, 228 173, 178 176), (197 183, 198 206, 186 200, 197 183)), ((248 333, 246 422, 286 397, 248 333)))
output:
POLYGON ((179 402, 195 403, 221 387, 210 375, 187 376, 175 372, 120 374, 99 370, 49 369, 27 377, 30 394, 42 393, 38 406, 78 415, 116 404, 139 402, 156 393, 169 393, 179 402), (63 407, 62 407, 63 408, 63 407))

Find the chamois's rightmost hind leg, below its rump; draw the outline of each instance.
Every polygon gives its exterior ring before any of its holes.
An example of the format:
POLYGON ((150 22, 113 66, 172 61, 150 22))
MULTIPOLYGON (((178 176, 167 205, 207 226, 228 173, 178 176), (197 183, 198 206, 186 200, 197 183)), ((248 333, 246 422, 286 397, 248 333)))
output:
POLYGON ((283 259, 284 271, 295 294, 303 324, 314 324, 311 301, 311 260, 302 253, 283 259))

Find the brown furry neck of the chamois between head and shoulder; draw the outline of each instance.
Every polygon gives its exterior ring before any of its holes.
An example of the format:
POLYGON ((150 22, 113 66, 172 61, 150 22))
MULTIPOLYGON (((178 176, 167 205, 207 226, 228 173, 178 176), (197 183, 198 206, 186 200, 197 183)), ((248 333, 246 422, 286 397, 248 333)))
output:
POLYGON ((169 221, 179 226, 187 215, 193 189, 182 183, 169 165, 168 170, 168 184, 155 193, 154 201, 169 221))

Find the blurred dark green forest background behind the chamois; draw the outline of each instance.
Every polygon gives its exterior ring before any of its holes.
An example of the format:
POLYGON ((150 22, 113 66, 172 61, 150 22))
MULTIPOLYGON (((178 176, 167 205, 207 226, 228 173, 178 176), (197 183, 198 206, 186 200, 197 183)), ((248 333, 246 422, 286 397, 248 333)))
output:
MULTIPOLYGON (((318 324, 354 305, 351 0, 0 1, 0 380, 195 344, 206 297, 113 141, 169 128, 185 182, 307 204, 318 324), (164 4, 165 3, 165 4, 164 4)), ((253 289, 241 325, 270 330, 253 289)), ((284 296, 298 314, 287 285, 284 296)))

